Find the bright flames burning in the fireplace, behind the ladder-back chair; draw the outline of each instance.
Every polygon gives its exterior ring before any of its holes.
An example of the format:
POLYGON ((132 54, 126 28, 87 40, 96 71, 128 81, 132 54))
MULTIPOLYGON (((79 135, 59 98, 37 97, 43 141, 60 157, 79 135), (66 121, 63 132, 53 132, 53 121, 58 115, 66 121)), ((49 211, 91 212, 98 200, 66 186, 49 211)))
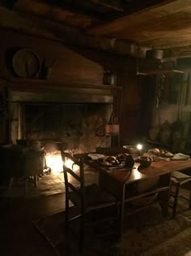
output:
MULTIPOLYGON (((51 168, 52 173, 62 172, 63 171, 63 161, 61 151, 55 151, 52 153, 47 153, 45 155, 46 165, 51 168)), ((69 158, 66 158, 65 161, 66 167, 72 169, 73 171, 79 170, 79 166, 74 165, 74 162, 69 158)))

